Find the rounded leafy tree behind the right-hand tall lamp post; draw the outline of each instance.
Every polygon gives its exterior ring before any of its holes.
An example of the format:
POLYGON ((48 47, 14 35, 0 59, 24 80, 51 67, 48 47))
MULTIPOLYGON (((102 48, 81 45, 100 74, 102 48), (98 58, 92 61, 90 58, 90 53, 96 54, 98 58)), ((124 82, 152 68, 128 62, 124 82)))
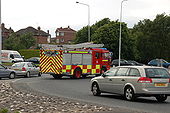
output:
MULTIPOLYGON (((119 54, 119 26, 118 21, 112 21, 100 27, 93 35, 92 41, 95 43, 103 43, 107 49, 113 52, 113 59, 118 58, 119 54)), ((127 25, 122 23, 122 46, 121 58, 134 59, 133 40, 129 37, 127 25)))

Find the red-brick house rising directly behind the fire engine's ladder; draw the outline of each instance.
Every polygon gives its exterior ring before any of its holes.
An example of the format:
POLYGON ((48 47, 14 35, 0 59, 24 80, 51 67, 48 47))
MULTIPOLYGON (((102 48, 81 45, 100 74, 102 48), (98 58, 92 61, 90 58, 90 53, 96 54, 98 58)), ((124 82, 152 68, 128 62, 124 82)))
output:
POLYGON ((55 42, 58 44, 69 44, 76 37, 76 31, 71 29, 69 26, 67 28, 57 28, 55 33, 55 42))

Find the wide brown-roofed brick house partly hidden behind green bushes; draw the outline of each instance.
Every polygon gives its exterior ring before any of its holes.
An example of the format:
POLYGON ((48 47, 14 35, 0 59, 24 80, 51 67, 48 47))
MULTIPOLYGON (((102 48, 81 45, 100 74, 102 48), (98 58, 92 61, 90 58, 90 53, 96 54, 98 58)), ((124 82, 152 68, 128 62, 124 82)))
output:
POLYGON ((51 35, 49 34, 49 30, 47 32, 44 32, 44 31, 41 30, 40 27, 35 29, 35 28, 30 26, 30 27, 21 29, 21 30, 16 32, 17 35, 22 35, 22 34, 25 34, 25 33, 32 33, 33 36, 36 38, 37 44, 48 44, 48 43, 50 43, 51 35))

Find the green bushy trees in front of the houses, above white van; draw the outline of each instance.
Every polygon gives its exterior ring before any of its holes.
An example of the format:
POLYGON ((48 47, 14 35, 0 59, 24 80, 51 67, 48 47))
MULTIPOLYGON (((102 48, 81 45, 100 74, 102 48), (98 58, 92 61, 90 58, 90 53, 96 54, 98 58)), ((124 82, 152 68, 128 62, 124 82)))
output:
POLYGON ((32 34, 27 33, 24 35, 16 35, 13 33, 8 39, 4 42, 4 49, 7 50, 20 50, 20 49, 29 49, 31 46, 35 45, 35 38, 32 34))

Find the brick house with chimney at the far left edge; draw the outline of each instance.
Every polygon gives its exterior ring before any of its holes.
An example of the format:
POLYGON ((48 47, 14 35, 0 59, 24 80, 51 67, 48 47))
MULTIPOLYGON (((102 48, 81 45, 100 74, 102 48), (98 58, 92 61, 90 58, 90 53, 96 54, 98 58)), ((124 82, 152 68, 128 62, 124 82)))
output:
POLYGON ((5 24, 2 23, 1 24, 1 30, 2 30, 2 49, 4 49, 4 41, 6 39, 9 38, 9 36, 14 33, 14 31, 11 29, 11 27, 9 29, 5 28, 5 24))

